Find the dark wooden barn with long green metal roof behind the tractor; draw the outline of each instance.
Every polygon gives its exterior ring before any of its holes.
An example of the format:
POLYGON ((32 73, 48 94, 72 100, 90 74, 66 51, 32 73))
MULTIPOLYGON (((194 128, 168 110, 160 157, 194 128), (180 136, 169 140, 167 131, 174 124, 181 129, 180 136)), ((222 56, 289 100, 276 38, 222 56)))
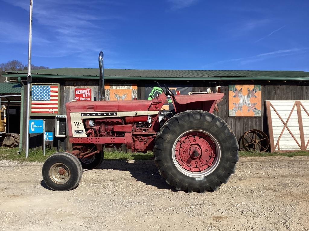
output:
MULTIPOLYGON (((304 71, 105 69, 104 75, 105 92, 109 100, 131 100, 134 97, 150 99, 160 93, 157 82, 180 91, 180 94, 188 94, 189 91, 206 91, 207 88, 215 91, 215 87, 220 85, 225 96, 223 101, 218 103, 219 112, 215 113, 233 129, 241 149, 243 148, 241 138, 248 130, 259 129, 268 135, 265 100, 309 100, 309 72, 304 71)), ((4 76, 9 77, 11 81, 23 83, 21 104, 25 109, 27 73, 14 71, 7 72, 4 76)), ((35 70, 32 73, 32 79, 32 86, 44 84, 58 86, 57 110, 41 113, 32 109, 31 119, 46 119, 46 131, 54 131, 55 115, 66 114, 65 103, 80 100, 79 97, 82 97, 82 100, 98 99, 99 70, 95 68, 35 70), (83 95, 83 92, 86 95, 83 95)), ((165 111, 169 109, 171 105, 166 105, 164 108, 165 111)), ((21 111, 23 125, 27 123, 25 115, 26 112, 21 111)), ((22 129, 21 133, 26 134, 25 126, 22 129)), ((42 140, 41 134, 31 134, 30 148, 41 146, 42 140)), ((24 147, 25 136, 21 137, 20 142, 24 147)), ((63 149, 70 149, 67 138, 54 139, 47 144, 53 147, 61 144, 63 149)), ((125 148, 121 151, 125 151, 125 148)))

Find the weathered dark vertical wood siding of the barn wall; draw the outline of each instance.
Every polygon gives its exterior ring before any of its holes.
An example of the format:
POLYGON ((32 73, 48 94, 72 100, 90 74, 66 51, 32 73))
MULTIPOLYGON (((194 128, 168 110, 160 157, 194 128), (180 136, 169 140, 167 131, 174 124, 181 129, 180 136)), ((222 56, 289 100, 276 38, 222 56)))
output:
MULTIPOLYGON (((152 80, 153 81, 153 80, 152 80)), ((42 83, 40 80, 35 80, 36 83, 42 83)), ((74 88, 75 87, 90 87, 92 89, 92 98, 97 97, 98 92, 98 81, 79 81, 79 80, 55 80, 51 79, 46 83, 60 83, 60 113, 65 113, 65 103, 74 100, 74 88)), ((110 80, 107 83, 116 83, 111 82, 110 80)), ((126 83, 122 81, 120 83, 126 83)), ((127 83, 135 83, 138 85, 138 99, 145 99, 145 84, 149 81, 132 81, 127 83)), ((170 82, 168 82, 170 83, 170 82)), ((268 81, 174 81, 175 85, 177 84, 190 84, 193 85, 193 91, 205 91, 207 88, 211 88, 215 91, 215 86, 220 85, 223 93, 225 93, 224 99, 218 104, 219 112, 215 112, 216 115, 220 116, 227 124, 231 126, 235 132, 237 140, 239 140, 240 148, 242 149, 241 138, 243 134, 250 129, 260 129, 268 134, 266 110, 265 110, 265 100, 309 100, 309 85, 304 82, 268 82, 268 81), (262 93, 262 115, 261 117, 229 117, 228 116, 228 86, 229 85, 252 85, 260 84, 261 93, 262 93)), ((156 84, 156 83, 154 83, 156 84)), ((160 82, 160 84, 164 84, 160 82)), ((24 87, 25 95, 27 95, 27 86, 24 87)), ((24 105, 26 108, 26 97, 24 97, 24 105)), ((24 113, 25 115, 26 113, 24 113)), ((32 116, 32 119, 46 119, 46 131, 54 131, 55 127, 55 118, 46 116, 38 118, 37 116, 32 116)), ((26 123, 26 118, 23 118, 24 124, 26 123)), ((23 136, 23 141, 25 136, 23 136)), ((30 135, 30 147, 38 147, 42 145, 43 136, 42 135, 30 135)), ((25 143, 23 142, 23 145, 25 143)), ((47 142, 48 145, 53 147, 58 146, 58 140, 55 139, 53 142, 47 142)), ((23 146, 24 147, 24 146, 23 146)), ((67 139, 65 139, 64 149, 70 149, 71 146, 68 144, 67 139)), ((112 149, 108 149, 112 150, 112 149)), ((126 151, 125 147, 122 147, 120 151, 126 151)))

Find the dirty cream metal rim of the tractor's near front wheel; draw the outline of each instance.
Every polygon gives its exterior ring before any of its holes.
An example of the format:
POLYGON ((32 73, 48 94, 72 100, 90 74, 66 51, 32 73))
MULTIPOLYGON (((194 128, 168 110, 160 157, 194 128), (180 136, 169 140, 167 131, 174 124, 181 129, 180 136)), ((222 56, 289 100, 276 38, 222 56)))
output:
POLYGON ((65 184, 70 176, 70 169, 65 164, 56 163, 49 168, 49 177, 56 184, 65 184))

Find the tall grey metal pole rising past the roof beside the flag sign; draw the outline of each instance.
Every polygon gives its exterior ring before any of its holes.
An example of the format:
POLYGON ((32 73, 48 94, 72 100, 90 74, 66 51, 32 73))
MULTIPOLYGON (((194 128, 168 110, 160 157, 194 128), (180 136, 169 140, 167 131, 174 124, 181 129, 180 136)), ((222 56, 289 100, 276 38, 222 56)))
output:
POLYGON ((27 77, 27 124, 26 124, 26 159, 29 155, 29 111, 30 111, 30 83, 32 81, 31 77, 31 39, 32 39, 32 0, 30 0, 29 8, 29 43, 28 43, 28 77, 27 77))

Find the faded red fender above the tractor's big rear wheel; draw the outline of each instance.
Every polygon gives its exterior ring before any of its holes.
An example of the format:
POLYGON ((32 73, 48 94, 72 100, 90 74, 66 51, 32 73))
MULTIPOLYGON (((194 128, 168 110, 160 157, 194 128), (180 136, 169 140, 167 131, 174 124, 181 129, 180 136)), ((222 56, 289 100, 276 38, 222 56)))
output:
POLYGON ((203 110, 213 113, 217 100, 222 99, 224 93, 173 95, 172 101, 176 113, 187 110, 203 110))

